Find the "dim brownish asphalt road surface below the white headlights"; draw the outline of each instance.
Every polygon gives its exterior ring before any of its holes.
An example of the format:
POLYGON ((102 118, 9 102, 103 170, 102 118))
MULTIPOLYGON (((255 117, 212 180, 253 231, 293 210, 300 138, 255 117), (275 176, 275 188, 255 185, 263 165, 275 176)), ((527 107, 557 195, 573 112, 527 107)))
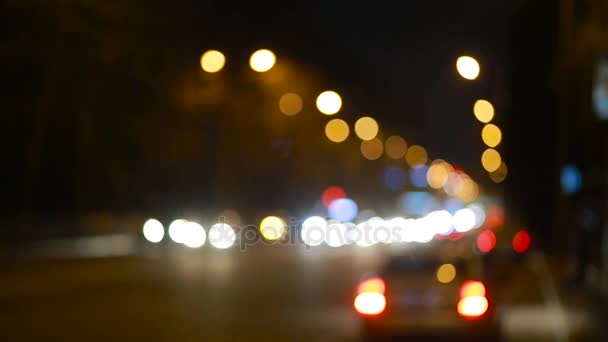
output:
MULTIPOLYGON (((123 256, 3 262, 2 340, 358 340, 352 290, 387 253, 139 247, 123 256)), ((546 295, 542 278, 522 271, 503 285, 508 340, 567 337, 559 325, 574 316, 546 295)))

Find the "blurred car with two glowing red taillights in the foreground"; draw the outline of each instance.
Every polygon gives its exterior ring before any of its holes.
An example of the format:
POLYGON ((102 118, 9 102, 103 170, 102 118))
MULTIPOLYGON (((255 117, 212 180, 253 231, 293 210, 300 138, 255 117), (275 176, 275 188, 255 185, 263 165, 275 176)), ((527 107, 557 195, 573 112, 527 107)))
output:
POLYGON ((481 260, 399 255, 358 285, 354 309, 367 340, 500 340, 481 260))

